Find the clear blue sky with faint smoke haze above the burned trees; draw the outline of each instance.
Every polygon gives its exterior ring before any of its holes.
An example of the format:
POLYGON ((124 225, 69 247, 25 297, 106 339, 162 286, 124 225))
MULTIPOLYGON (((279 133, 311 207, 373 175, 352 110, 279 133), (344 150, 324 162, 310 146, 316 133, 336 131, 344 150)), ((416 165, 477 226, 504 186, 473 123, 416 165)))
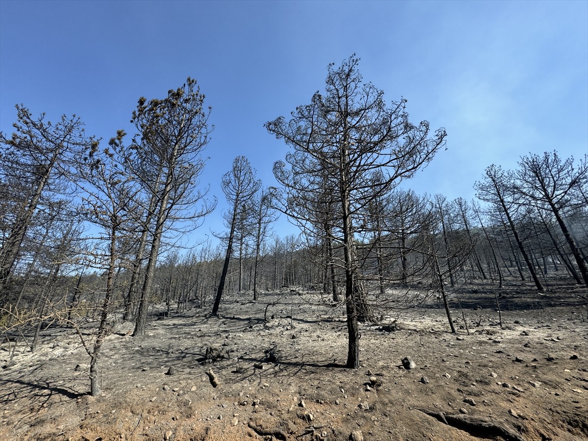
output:
POLYGON ((586 1, 0 0, 0 129, 23 103, 50 119, 76 113, 108 142, 132 133, 140 96, 196 78, 215 125, 202 182, 219 199, 203 236, 219 230, 220 175, 235 156, 275 184, 287 150, 263 123, 308 103, 327 65, 353 53, 388 101, 408 100, 413 122, 447 130, 447 151, 406 183, 417 193, 470 199, 492 163, 588 153, 586 1))

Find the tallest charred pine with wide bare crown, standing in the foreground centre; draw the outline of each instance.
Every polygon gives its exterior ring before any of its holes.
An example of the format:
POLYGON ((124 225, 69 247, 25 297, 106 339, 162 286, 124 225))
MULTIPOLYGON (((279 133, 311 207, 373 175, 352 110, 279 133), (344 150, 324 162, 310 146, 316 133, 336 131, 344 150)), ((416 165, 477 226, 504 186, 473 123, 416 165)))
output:
POLYGON ((363 224, 362 213, 378 195, 425 166, 446 136, 444 129, 430 136, 426 121, 410 123, 405 99, 387 106, 383 91, 362 81, 358 64, 353 55, 338 68, 329 65, 325 95, 316 92, 310 104, 292 112, 290 121, 279 117, 265 125, 292 148, 286 162, 274 165, 288 215, 300 218, 297 205, 289 201, 313 199, 336 189, 333 236, 343 250, 349 368, 359 367, 358 305, 365 293, 356 234, 363 224), (369 177, 376 171, 383 179, 372 185, 369 177))

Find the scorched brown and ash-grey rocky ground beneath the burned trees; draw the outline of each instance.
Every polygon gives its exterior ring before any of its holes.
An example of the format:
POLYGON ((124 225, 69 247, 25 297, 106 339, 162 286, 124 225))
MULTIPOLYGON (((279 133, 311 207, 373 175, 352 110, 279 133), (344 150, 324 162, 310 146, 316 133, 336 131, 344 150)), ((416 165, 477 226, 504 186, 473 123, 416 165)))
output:
POLYGON ((341 306, 289 290, 228 295, 218 318, 191 308, 154 318, 141 338, 116 324, 101 397, 86 395, 74 330, 49 328, 13 366, 0 348, 0 439, 586 440, 588 294, 558 283, 500 290, 502 328, 492 292, 468 286, 470 335, 455 300, 456 335, 436 302, 402 312, 396 329, 362 324, 355 370, 343 367, 341 306), (228 358, 203 363, 214 345, 228 358), (265 353, 274 347, 278 362, 265 353))

